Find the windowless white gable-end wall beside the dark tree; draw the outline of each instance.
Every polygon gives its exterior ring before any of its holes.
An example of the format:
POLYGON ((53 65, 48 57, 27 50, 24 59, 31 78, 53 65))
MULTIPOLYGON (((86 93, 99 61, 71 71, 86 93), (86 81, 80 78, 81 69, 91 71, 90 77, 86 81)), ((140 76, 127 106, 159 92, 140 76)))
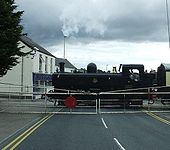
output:
MULTIPOLYGON (((23 43, 20 43, 20 46, 23 46, 23 43)), ((31 49, 28 46, 25 46, 22 49, 23 52, 29 52, 31 49)), ((8 90, 21 92, 21 85, 22 85, 22 70, 23 70, 23 85, 27 86, 27 88, 23 88, 23 92, 32 92, 32 88, 28 88, 28 86, 32 86, 32 66, 33 66, 33 59, 31 55, 27 55, 25 57, 20 57, 19 62, 16 66, 9 70, 7 74, 0 78, 0 82, 2 83, 10 83, 12 85, 7 84, 0 84, 0 91, 8 90), (23 60, 23 61, 22 61, 23 60), (23 63, 23 69, 22 69, 23 63), (18 86, 17 86, 18 85, 18 86), (8 88, 7 88, 8 87, 8 88)))

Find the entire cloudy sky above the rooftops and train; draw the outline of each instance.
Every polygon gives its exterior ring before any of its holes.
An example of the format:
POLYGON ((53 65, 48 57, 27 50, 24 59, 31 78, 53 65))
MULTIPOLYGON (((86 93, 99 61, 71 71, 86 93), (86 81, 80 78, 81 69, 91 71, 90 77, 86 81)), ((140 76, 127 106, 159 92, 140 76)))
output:
MULTIPOLYGON (((168 3, 170 4, 169 0, 168 3)), ((28 36, 78 68, 170 63, 165 0, 16 0, 28 36)))

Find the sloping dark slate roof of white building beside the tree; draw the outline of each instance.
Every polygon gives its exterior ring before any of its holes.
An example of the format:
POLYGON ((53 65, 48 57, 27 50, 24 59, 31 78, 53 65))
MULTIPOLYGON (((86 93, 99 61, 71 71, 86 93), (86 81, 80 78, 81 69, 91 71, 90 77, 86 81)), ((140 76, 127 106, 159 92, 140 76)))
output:
POLYGON ((46 55, 49 55, 49 56, 53 56, 55 57, 54 55, 52 55, 50 52, 48 52, 46 49, 44 49, 43 47, 41 47, 40 45, 38 45, 37 43, 35 43, 34 41, 32 41, 30 38, 28 38, 27 36, 21 36, 20 37, 21 41, 27 45, 28 47, 30 47, 31 49, 34 49, 34 50, 37 50, 41 53, 44 53, 46 55))

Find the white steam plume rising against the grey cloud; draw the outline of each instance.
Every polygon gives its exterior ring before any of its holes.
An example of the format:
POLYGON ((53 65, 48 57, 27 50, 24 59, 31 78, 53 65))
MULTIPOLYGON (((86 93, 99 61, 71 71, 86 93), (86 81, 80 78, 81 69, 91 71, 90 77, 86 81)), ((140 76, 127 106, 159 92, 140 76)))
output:
POLYGON ((100 3, 95 0, 77 0, 77 3, 66 5, 60 16, 63 34, 69 36, 81 31, 103 35, 107 29, 105 23, 109 13, 103 10, 102 4, 104 0, 100 0, 100 3))

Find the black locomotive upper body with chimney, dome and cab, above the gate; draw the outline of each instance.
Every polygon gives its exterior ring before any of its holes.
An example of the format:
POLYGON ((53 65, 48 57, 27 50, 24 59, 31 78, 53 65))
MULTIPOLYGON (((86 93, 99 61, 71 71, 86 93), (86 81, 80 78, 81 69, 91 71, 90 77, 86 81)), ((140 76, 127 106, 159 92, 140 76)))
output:
MULTIPOLYGON (((64 64, 60 65, 60 72, 52 75, 52 83, 57 90, 74 90, 86 92, 105 92, 141 87, 152 87, 156 82, 156 73, 144 71, 144 65, 124 64, 120 65, 117 73, 99 72, 94 63, 87 66, 86 72, 64 72, 64 64)), ((161 73, 160 73, 161 74, 161 73)))

